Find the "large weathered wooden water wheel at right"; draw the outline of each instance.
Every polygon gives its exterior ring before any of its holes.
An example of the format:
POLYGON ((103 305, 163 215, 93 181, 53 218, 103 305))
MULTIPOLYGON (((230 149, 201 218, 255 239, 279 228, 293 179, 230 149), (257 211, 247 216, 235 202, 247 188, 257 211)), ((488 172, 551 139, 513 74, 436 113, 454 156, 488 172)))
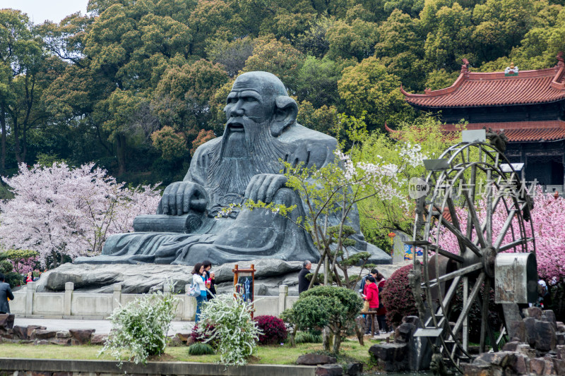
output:
POLYGON ((506 321, 519 312, 516 303, 526 303, 521 289, 530 301, 537 298, 531 286, 531 280, 537 281, 532 201, 513 165, 487 142, 461 142, 425 162, 429 172, 420 181, 422 197, 409 242, 422 250, 410 276, 422 321, 415 336, 427 337, 446 364, 460 370, 461 362, 472 360, 470 329, 478 330, 479 352, 497 351, 508 332, 506 321), (427 195, 422 186, 429 188, 427 195), (450 239, 451 251, 444 245, 450 239), (523 256, 530 284, 518 283, 520 291, 510 300, 498 298, 505 304, 492 303, 495 289, 515 292, 504 286, 513 284, 504 272, 508 267, 499 272, 496 266, 499 255, 508 253, 506 258, 529 253, 523 256), (480 328, 470 327, 473 310, 480 315, 480 328), (501 325, 493 324, 496 315, 501 325))

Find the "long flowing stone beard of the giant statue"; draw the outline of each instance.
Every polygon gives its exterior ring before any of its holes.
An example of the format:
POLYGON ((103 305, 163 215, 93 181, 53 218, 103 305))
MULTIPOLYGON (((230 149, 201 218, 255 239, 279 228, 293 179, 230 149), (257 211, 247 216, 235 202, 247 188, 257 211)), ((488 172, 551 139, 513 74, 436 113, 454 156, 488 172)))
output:
POLYGON ((244 132, 226 127, 222 142, 215 145, 207 183, 213 200, 224 206, 242 202, 247 184, 256 174, 278 174, 290 148, 270 135, 270 123, 244 118, 244 132))

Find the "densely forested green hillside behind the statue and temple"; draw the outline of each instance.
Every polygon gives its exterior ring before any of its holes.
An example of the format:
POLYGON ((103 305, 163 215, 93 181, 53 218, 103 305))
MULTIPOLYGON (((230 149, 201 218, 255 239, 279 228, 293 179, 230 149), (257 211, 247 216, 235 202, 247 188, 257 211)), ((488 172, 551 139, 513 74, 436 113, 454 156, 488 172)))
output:
POLYGON ((165 184, 220 135, 240 71, 278 75, 299 121, 339 114, 381 130, 417 116, 399 87, 472 71, 547 68, 565 50, 555 0, 90 0, 88 16, 32 25, 0 11, 1 173, 18 162, 96 162, 165 184), (366 111, 366 112, 365 112, 366 111))

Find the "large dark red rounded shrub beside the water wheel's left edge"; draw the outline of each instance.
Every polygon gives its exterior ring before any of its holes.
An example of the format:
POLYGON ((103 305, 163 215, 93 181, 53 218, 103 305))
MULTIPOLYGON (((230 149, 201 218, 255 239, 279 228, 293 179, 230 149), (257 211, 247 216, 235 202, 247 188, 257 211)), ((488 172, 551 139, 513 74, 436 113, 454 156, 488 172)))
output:
POLYGON ((381 298, 386 307, 386 320, 394 327, 402 323, 405 316, 418 315, 412 289, 408 283, 408 273, 412 265, 401 267, 386 281, 381 298))

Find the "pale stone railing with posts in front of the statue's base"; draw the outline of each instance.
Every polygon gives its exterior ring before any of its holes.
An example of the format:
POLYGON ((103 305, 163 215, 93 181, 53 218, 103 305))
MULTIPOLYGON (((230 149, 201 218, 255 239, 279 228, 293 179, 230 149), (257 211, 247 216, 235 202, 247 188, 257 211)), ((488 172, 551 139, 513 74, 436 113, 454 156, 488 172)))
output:
MULTIPOLYGON (((168 289, 168 286, 165 286, 168 289)), ((186 291, 188 286, 186 286, 186 291)), ((61 293, 37 293, 35 282, 29 282, 24 289, 13 293, 10 302, 11 313, 18 317, 45 317, 102 320, 112 311, 140 296, 135 293, 121 293, 121 284, 114 284, 113 293, 81 293, 74 291, 74 284, 67 282, 61 293)), ((196 299, 186 294, 178 295, 176 320, 192 321, 196 314, 196 299)), ((292 307, 298 296, 288 296, 288 286, 279 286, 278 296, 255 296, 255 315, 278 316, 292 307)))

